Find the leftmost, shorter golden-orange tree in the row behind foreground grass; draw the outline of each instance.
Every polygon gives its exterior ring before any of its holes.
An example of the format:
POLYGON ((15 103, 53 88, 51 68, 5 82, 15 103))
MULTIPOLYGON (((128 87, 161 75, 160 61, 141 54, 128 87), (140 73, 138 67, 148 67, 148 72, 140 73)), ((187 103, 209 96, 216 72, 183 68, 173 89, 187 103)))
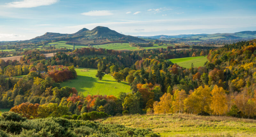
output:
POLYGON ((172 113, 172 100, 173 96, 170 93, 164 93, 160 97, 160 101, 156 101, 153 104, 155 114, 172 113))

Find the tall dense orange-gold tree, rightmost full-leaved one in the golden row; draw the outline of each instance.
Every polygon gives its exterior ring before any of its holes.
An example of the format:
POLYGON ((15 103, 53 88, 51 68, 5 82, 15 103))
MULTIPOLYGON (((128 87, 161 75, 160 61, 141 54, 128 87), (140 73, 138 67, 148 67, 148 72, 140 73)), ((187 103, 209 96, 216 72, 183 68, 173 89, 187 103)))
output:
POLYGON ((226 91, 215 85, 212 90, 211 109, 214 115, 222 115, 227 109, 226 91))

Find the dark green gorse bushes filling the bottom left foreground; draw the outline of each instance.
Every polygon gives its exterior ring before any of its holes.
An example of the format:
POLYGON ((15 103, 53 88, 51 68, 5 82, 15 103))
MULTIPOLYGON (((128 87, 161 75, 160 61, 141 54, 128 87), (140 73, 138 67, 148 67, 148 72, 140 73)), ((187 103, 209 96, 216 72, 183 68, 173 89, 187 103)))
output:
MULTIPOLYGON (((106 114, 106 113, 105 113, 106 114)), ((104 113, 86 113, 86 116, 96 119, 104 113)), ((73 120, 64 118, 22 119, 12 121, 6 115, 18 117, 13 112, 4 113, 0 120, 1 137, 158 137, 146 129, 128 128, 117 124, 100 124, 95 121, 73 120), (20 122, 17 122, 20 121, 20 122)), ((77 115, 73 115, 73 118, 77 115)), ((71 117, 71 118, 72 118, 71 117)))

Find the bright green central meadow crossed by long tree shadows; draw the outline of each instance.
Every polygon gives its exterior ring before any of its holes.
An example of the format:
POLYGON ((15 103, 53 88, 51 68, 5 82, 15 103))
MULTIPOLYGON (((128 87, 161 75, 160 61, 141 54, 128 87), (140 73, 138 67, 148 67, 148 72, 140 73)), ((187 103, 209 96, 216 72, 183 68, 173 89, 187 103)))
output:
POLYGON ((85 96, 88 94, 96 95, 114 95, 120 92, 131 92, 127 82, 118 83, 110 75, 105 75, 102 80, 95 77, 97 69, 91 68, 89 71, 83 71, 84 68, 76 68, 77 77, 73 80, 62 82, 62 87, 74 87, 78 92, 85 96))

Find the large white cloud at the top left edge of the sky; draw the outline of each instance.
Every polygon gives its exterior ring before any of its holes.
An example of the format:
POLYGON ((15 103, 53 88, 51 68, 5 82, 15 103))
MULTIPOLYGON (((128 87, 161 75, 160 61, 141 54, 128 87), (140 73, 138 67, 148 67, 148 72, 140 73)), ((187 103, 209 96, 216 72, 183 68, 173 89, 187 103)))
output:
POLYGON ((57 3, 59 0, 16 0, 15 2, 6 3, 6 7, 12 8, 32 8, 57 3))

